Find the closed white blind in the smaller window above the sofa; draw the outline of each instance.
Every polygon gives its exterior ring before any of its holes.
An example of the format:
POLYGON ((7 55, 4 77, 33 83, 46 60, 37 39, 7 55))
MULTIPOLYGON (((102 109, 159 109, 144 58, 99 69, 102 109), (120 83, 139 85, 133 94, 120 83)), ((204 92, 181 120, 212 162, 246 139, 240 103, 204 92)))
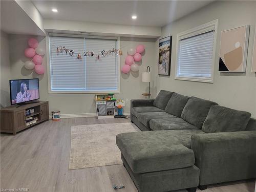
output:
POLYGON ((179 40, 176 77, 211 79, 215 31, 179 40))

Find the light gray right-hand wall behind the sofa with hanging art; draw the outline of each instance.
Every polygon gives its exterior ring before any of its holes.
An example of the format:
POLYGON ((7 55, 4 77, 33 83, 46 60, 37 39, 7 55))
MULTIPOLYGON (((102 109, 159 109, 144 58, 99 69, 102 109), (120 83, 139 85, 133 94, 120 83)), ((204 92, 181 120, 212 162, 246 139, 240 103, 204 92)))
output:
MULTIPOLYGON (((173 36, 171 75, 156 75, 157 92, 161 89, 218 102, 229 108, 248 111, 256 118, 256 75, 251 72, 256 2, 216 1, 162 28, 161 37, 173 36), (214 83, 175 80, 177 33, 219 19, 214 83), (218 72, 221 31, 249 24, 249 49, 246 73, 218 72)), ((158 47, 158 43, 156 44, 158 47)), ((157 66, 154 68, 157 74, 157 66)))

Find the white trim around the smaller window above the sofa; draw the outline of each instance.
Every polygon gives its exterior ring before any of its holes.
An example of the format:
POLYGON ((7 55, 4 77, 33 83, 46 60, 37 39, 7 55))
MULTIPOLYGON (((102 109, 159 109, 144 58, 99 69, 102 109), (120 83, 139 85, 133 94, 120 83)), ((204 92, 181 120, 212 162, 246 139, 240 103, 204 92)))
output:
POLYGON ((217 29, 218 29, 218 19, 177 34, 176 63, 175 63, 176 64, 175 65, 175 79, 176 80, 198 81, 198 82, 209 82, 209 83, 214 82, 214 66, 215 66, 215 60, 216 60, 217 29), (188 38, 188 37, 193 37, 193 36, 196 36, 196 35, 199 35, 202 33, 206 33, 206 32, 212 31, 212 30, 214 30, 215 33, 214 33, 214 50, 212 53, 211 78, 208 79, 205 77, 190 77, 190 76, 179 77, 179 76, 177 76, 178 60, 179 60, 179 58, 178 58, 179 57, 179 40, 188 38))

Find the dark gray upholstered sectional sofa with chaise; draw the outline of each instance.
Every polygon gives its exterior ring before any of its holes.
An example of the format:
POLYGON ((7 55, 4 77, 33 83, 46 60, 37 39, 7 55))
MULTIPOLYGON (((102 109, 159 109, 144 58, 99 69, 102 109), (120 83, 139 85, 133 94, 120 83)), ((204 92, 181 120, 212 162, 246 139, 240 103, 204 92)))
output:
POLYGON ((164 192, 256 176, 256 120, 216 102, 161 90, 131 100, 143 132, 116 137, 123 164, 140 192, 164 192))

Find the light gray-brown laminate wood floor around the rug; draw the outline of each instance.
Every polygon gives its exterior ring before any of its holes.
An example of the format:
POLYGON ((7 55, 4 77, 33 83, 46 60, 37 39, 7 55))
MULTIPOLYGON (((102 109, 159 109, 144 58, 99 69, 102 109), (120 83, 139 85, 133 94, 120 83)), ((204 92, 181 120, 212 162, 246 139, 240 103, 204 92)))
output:
MULTIPOLYGON (((29 188, 29 192, 137 192, 122 165, 68 170, 72 125, 129 121, 95 117, 49 120, 16 136, 1 134, 1 188, 29 188), (114 184, 125 188, 114 190, 114 184)), ((204 192, 253 192, 254 183, 211 185, 204 192)))

